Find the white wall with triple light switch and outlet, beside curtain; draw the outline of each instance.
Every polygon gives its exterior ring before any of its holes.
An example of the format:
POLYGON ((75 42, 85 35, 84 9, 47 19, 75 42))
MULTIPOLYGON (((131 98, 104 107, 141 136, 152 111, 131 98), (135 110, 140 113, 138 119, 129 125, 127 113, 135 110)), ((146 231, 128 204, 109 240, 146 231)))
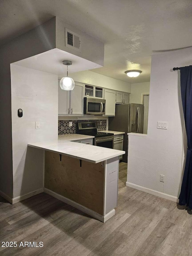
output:
POLYGON ((186 134, 178 71, 173 68, 191 64, 191 47, 152 56, 148 134, 129 135, 128 182, 175 197, 180 192, 186 134), (157 121, 167 121, 168 129, 157 129, 157 121), (160 174, 165 175, 164 183, 160 174))

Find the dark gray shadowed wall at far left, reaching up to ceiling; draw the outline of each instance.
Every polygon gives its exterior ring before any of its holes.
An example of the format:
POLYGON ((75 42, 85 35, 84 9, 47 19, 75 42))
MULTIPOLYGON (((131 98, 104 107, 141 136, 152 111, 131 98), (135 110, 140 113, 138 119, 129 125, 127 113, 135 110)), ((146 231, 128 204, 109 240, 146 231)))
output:
POLYGON ((0 191, 13 198, 10 63, 56 47, 55 17, 0 48, 0 191))

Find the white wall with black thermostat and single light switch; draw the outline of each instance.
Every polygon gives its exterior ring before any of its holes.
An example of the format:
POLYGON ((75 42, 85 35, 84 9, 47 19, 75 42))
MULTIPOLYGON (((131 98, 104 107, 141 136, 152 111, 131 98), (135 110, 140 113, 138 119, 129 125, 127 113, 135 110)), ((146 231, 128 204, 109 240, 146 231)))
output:
POLYGON ((15 198, 43 187, 43 150, 27 144, 58 137, 58 77, 18 65, 11 64, 10 69, 15 198), (35 121, 40 129, 35 129, 35 121))

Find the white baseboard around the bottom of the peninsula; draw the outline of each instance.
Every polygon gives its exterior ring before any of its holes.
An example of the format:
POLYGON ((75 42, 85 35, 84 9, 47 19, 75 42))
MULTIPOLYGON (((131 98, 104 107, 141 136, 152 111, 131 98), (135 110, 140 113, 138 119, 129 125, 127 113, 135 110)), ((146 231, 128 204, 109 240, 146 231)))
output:
POLYGON ((101 214, 94 212, 94 211, 88 209, 87 207, 68 199, 67 197, 61 196, 60 194, 57 194, 57 193, 49 190, 48 188, 44 188, 44 192, 51 195, 52 197, 57 198, 58 200, 60 200, 64 203, 67 203, 67 204, 73 206, 76 209, 79 209, 82 212, 85 212, 86 214, 90 215, 91 217, 94 217, 95 219, 97 219, 101 222, 106 222, 113 215, 115 215, 115 209, 113 209, 112 211, 107 213, 105 216, 102 216, 101 214))

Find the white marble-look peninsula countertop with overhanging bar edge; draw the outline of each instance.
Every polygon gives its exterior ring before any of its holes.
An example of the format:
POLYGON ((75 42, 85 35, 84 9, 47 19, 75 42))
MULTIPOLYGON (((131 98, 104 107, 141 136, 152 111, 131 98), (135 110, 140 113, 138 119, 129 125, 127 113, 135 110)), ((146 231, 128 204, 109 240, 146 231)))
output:
POLYGON ((125 151, 121 150, 108 149, 62 139, 30 143, 28 146, 44 149, 61 155, 67 155, 91 163, 99 163, 125 154, 125 151))

